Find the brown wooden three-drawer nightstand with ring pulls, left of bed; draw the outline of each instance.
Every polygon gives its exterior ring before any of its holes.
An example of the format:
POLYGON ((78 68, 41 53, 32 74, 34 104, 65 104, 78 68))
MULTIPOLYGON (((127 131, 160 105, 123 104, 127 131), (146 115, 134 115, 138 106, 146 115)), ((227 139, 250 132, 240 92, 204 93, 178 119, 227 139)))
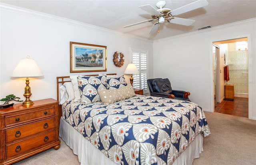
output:
POLYGON ((0 109, 0 165, 9 165, 50 149, 59 149, 58 101, 0 109))

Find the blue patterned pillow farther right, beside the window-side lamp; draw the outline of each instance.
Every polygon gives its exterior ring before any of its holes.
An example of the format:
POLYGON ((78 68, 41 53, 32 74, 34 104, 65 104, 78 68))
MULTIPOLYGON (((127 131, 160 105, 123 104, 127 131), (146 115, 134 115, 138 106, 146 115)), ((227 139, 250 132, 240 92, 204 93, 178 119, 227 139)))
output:
POLYGON ((126 86, 124 75, 117 77, 107 77, 107 89, 118 89, 126 86))

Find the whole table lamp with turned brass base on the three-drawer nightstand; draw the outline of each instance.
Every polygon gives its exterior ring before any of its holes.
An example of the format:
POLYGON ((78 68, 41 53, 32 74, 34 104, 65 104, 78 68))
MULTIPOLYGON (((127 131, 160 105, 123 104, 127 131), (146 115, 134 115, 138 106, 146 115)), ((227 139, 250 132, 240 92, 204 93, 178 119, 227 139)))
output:
POLYGON ((20 63, 16 66, 12 75, 10 77, 26 77, 26 87, 23 96, 26 98, 24 102, 22 102, 23 106, 28 106, 34 104, 32 100, 30 100, 30 96, 32 93, 30 92, 30 86, 28 77, 39 77, 43 76, 40 68, 34 61, 34 59, 30 59, 30 56, 27 56, 26 59, 22 59, 20 63))

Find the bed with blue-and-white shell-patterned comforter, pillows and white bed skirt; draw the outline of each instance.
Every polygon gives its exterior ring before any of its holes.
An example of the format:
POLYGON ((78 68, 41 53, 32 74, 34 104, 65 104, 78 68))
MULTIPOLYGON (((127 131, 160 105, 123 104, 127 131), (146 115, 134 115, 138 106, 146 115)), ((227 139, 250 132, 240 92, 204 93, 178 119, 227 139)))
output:
POLYGON ((57 97, 60 137, 81 165, 191 165, 210 135, 197 104, 137 95, 116 74, 57 77, 57 97))

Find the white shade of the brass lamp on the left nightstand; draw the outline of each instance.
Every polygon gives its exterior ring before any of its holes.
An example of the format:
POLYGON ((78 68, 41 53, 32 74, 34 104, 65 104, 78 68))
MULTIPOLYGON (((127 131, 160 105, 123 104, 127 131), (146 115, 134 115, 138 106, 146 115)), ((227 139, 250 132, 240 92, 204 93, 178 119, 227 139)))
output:
POLYGON ((40 68, 34 61, 27 56, 26 59, 22 59, 12 72, 11 77, 38 77, 43 76, 40 68))

